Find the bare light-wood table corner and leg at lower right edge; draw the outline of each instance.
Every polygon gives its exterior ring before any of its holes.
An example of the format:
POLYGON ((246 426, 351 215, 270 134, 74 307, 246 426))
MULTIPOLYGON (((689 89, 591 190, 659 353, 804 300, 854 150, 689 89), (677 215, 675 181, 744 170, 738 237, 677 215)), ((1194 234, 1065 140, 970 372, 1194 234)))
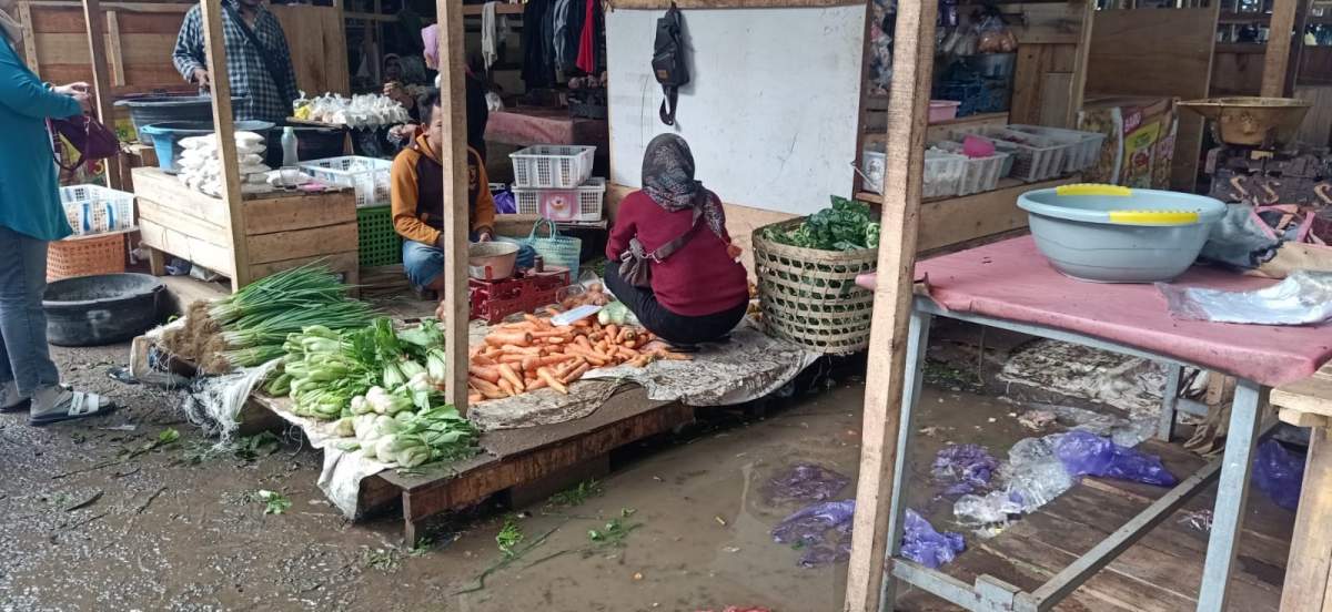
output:
POLYGON ((1332 609, 1332 365, 1312 377, 1272 390, 1283 422, 1309 427, 1300 510, 1295 515, 1291 560, 1285 567, 1281 612, 1332 609))

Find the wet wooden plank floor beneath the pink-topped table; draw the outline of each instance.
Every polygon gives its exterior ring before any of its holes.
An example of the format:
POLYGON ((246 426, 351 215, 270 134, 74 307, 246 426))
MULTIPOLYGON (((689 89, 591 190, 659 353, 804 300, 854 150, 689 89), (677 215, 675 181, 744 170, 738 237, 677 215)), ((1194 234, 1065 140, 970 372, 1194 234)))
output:
MULTIPOLYGON (((1179 446, 1148 442, 1144 451, 1160 455, 1166 466, 1184 476, 1204 464, 1179 446)), ((1100 539, 1147 508, 1166 488, 1111 479, 1087 478, 1039 511, 1015 522, 1003 534, 980 540, 967 534, 968 549, 944 567, 968 584, 988 573, 1032 591, 1090 551, 1100 539)), ((1188 514, 1209 510, 1216 499, 1211 486, 1175 516, 1166 519, 1115 563, 1088 580, 1059 611, 1191 611, 1197 603, 1207 551, 1205 531, 1188 524, 1188 514)), ((1280 607, 1295 514, 1275 506, 1267 494, 1249 487, 1244 534, 1236 575, 1231 580, 1231 609, 1275 612, 1280 607)), ((948 611, 951 604, 920 592, 899 589, 898 609, 948 611)))

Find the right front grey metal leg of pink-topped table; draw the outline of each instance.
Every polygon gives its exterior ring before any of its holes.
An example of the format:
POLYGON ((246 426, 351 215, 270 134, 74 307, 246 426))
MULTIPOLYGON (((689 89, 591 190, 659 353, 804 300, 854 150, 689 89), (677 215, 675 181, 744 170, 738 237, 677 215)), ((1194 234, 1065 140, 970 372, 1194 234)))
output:
POLYGON ((1212 536, 1207 541, 1207 564, 1203 567, 1203 585, 1197 595, 1199 612, 1223 612, 1227 584, 1235 551, 1239 548, 1240 527, 1248 502, 1249 471, 1253 467, 1253 447, 1261 434, 1261 408, 1267 404, 1267 390, 1251 381, 1239 381, 1235 403, 1231 406, 1231 424, 1225 435, 1225 456, 1221 480, 1212 510, 1212 536))

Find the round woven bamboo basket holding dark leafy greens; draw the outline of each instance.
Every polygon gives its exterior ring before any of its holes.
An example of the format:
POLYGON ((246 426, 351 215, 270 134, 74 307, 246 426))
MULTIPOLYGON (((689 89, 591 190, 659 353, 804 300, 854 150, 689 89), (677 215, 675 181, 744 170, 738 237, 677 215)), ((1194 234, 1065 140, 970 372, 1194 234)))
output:
POLYGON ((832 251, 782 245, 763 238, 767 228, 790 229, 790 220, 754 230, 754 269, 763 325, 773 337, 813 351, 843 355, 870 345, 874 291, 855 283, 874 271, 878 249, 832 251))

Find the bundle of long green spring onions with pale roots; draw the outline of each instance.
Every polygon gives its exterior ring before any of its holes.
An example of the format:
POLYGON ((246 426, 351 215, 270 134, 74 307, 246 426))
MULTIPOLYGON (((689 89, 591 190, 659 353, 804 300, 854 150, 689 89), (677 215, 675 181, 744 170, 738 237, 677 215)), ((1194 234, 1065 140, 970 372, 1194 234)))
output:
POLYGON ((208 315, 222 327, 224 357, 253 367, 285 355, 288 335, 310 326, 332 331, 365 327, 373 311, 349 299, 348 286, 317 263, 280 271, 222 298, 208 315))

